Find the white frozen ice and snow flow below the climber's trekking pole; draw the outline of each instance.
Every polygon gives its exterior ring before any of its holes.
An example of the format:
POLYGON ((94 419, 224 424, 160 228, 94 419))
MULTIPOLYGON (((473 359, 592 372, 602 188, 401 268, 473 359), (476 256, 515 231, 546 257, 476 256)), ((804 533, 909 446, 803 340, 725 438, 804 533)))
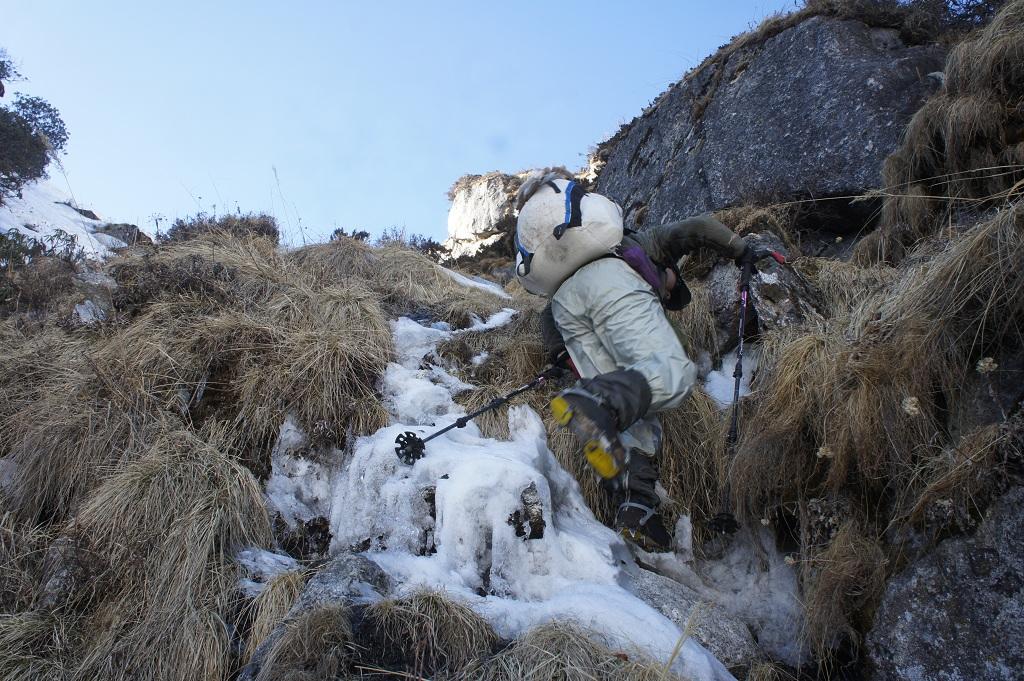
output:
MULTIPOLYGON (((471 329, 496 328, 514 313, 502 310, 471 329)), ((409 318, 393 323, 392 332, 398 363, 385 372, 382 390, 396 423, 358 438, 336 476, 332 550, 366 550, 399 594, 421 586, 445 590, 506 638, 574 620, 611 645, 667 662, 682 632, 620 585, 632 557, 587 508, 528 407, 509 410, 508 441, 483 437, 469 423, 430 440, 415 465, 398 461, 399 433, 425 436, 464 414, 452 399, 454 377, 426 359, 461 332, 409 318), (544 520, 543 536, 532 540, 511 521, 528 488, 544 520)), ((673 669, 696 680, 732 678, 692 639, 673 669)))

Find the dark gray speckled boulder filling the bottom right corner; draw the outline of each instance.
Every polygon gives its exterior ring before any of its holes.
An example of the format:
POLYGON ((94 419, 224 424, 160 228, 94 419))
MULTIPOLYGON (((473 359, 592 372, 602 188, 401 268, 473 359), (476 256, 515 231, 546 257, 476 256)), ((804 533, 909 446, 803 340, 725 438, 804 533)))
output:
POLYGON ((973 537, 946 540, 889 583, 867 635, 878 681, 1024 679, 1024 487, 973 537))

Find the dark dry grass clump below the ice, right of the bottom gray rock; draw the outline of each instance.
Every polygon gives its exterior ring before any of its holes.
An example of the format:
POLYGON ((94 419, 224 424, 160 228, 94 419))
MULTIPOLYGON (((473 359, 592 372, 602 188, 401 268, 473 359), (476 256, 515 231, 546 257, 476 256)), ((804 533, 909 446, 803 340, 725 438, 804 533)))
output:
POLYGON ((488 655, 498 642, 490 625, 442 592, 418 591, 367 608, 369 659, 416 676, 446 678, 488 655))

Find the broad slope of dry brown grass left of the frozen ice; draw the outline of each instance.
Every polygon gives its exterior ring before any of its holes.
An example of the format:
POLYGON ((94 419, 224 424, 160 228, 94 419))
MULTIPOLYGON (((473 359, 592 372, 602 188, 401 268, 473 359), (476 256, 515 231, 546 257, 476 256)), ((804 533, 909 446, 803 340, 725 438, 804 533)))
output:
MULTIPOLYGON (((386 423, 377 383, 393 355, 391 316, 465 324, 508 302, 396 245, 286 254, 208 233, 109 267, 121 285, 117 324, 0 323, 0 457, 15 464, 0 500, 4 608, 30 606, 56 534, 96 563, 53 626, 4 620, 0 636, 18 652, 0 678, 228 678, 239 662, 225 625, 238 614, 231 559, 270 541, 245 466, 265 472, 288 414, 337 444, 386 423)), ((268 587, 251 613, 254 638, 281 621, 300 582, 268 587)), ((339 646, 341 664, 349 651, 339 646)))

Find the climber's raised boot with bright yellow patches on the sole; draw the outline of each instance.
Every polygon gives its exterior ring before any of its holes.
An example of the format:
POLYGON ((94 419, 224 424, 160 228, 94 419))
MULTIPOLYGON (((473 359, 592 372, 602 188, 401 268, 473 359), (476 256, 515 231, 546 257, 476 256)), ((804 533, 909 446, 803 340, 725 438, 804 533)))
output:
POLYGON ((569 389, 551 400, 551 412, 559 426, 568 427, 583 442, 584 456, 598 475, 611 479, 625 468, 618 424, 595 397, 569 389))

